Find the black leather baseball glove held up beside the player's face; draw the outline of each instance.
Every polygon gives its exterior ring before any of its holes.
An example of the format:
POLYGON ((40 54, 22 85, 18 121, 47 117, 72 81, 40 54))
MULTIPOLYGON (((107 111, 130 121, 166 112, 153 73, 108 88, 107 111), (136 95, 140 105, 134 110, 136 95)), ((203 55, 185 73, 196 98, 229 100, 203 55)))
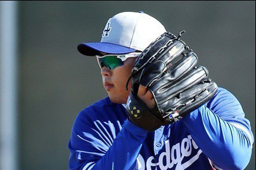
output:
POLYGON ((127 113, 129 120, 143 129, 154 131, 182 119, 217 91, 218 86, 208 77, 206 67, 197 66, 197 55, 180 40, 183 32, 177 37, 165 32, 135 61, 128 79, 129 82, 132 78, 132 85, 127 113), (149 109, 138 98, 139 85, 152 92, 154 109, 149 109))

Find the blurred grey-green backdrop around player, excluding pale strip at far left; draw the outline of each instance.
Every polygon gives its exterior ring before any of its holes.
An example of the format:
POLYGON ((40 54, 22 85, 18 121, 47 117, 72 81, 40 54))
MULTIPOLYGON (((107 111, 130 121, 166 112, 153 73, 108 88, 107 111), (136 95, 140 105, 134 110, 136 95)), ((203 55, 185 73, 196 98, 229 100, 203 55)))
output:
MULTIPOLYGON (((77 113, 107 96, 95 58, 77 44, 100 41, 123 11, 144 11, 176 35, 186 30, 182 39, 237 97, 255 135, 255 1, 19 1, 19 169, 68 169, 77 113)), ((246 169, 255 169, 255 143, 246 169)))

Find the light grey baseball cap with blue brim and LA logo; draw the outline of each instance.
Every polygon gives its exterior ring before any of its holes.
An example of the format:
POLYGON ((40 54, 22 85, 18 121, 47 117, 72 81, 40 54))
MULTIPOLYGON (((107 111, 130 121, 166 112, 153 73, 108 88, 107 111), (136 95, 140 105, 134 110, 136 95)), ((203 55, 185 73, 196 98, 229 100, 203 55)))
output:
POLYGON ((165 27, 148 14, 123 12, 107 21, 100 42, 83 42, 77 50, 88 56, 143 51, 164 32, 165 27))

